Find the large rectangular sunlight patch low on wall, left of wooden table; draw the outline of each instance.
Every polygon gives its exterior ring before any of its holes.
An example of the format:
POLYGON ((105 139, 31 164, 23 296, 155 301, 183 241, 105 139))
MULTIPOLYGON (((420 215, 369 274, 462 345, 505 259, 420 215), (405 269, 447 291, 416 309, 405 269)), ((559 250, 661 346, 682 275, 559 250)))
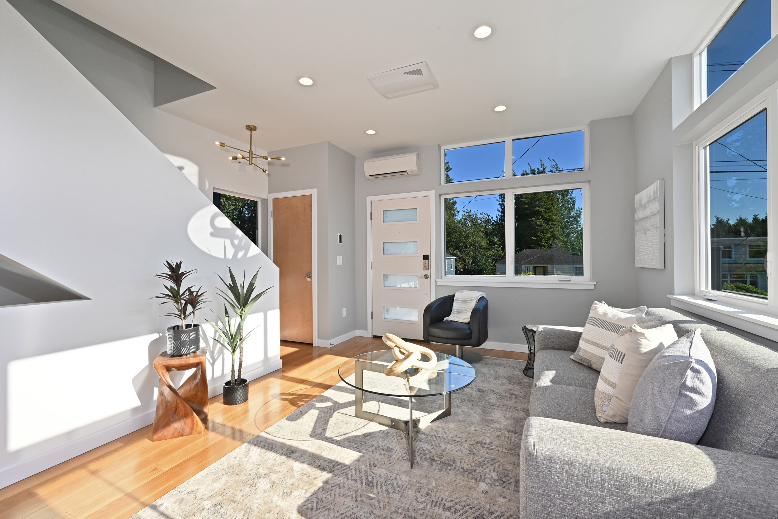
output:
POLYGON ((149 342, 158 337, 141 335, 12 360, 8 364, 8 451, 141 405, 133 384, 117 381, 145 374, 149 342))

